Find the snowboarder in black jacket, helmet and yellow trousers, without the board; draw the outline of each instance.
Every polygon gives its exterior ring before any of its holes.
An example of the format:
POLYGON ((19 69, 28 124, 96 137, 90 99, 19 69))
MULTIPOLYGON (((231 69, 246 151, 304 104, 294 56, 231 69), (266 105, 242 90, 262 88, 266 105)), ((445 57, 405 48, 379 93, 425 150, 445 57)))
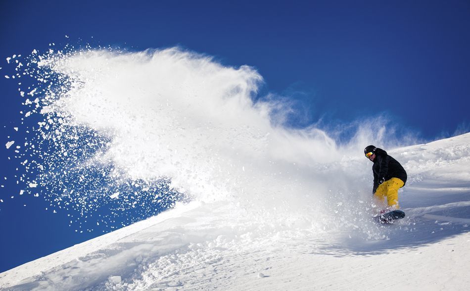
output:
POLYGON ((364 154, 374 165, 374 188, 372 194, 380 213, 399 209, 398 189, 405 186, 407 175, 402 165, 387 152, 374 145, 368 145, 364 154), (384 202, 386 197, 387 203, 384 202))

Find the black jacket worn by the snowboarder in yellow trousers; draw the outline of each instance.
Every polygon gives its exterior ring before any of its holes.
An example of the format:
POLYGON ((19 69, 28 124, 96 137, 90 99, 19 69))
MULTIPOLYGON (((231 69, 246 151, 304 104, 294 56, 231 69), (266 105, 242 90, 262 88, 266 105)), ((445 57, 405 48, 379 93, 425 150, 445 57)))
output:
POLYGON ((378 147, 375 154, 376 158, 372 166, 372 171, 374 172, 374 188, 372 193, 376 193, 378 181, 382 178, 385 178, 385 181, 391 178, 398 178, 402 180, 403 183, 406 183, 406 171, 396 159, 392 158, 385 150, 378 147))

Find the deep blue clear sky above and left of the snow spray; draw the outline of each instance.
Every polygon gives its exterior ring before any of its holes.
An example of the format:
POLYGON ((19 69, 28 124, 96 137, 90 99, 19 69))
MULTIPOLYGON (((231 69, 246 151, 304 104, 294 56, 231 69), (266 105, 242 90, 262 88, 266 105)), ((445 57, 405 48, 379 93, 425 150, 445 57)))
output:
MULTIPOLYGON (((425 141, 470 128, 468 1, 1 1, 0 23, 0 76, 6 57, 50 43, 181 46, 255 67, 262 94, 298 101, 293 127, 385 115, 425 141)), ((13 131, 21 98, 11 79, 0 78, 0 90, 6 144, 22 138, 13 131)), ((18 196, 8 156, 0 150, 0 271, 102 233, 77 234, 66 213, 18 196)))

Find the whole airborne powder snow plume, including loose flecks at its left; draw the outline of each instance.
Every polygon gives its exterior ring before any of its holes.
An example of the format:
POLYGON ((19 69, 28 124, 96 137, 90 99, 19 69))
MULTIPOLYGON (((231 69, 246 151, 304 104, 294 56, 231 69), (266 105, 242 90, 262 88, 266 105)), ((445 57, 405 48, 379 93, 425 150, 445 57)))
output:
POLYGON ((234 217, 315 230, 357 228, 332 217, 368 209, 357 146, 283 127, 282 102, 257 96, 252 67, 180 48, 51 49, 25 61, 20 71, 38 82, 20 92, 37 122, 18 155, 30 156, 22 180, 54 209, 111 205, 102 223, 134 222, 179 201, 227 201, 234 217), (359 202, 345 210, 348 199, 359 202))

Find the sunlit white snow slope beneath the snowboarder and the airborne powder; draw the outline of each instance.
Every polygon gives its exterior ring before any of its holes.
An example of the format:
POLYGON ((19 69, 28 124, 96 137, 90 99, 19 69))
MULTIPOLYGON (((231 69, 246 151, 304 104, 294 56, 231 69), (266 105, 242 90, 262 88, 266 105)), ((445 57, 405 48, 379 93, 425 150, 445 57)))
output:
MULTIPOLYGON (((371 221, 369 194, 333 193, 330 213, 292 220, 193 201, 1 273, 0 288, 468 290, 470 134, 389 154, 409 174, 396 224, 371 221)), ((341 165, 370 182, 362 156, 341 165)))

